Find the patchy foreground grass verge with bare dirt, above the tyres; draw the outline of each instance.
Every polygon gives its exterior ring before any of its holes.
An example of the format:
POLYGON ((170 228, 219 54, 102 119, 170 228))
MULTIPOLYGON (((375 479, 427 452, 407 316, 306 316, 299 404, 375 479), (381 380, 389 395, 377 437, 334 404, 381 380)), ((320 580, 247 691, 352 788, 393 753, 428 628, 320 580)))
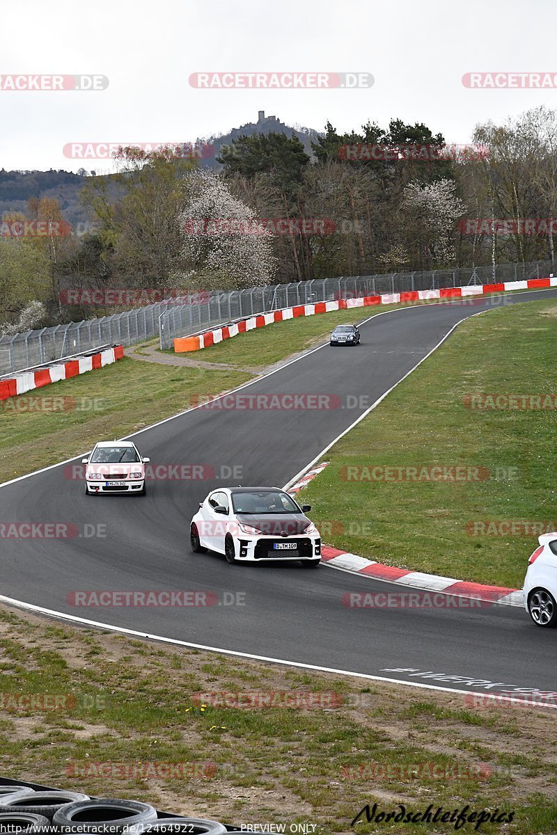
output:
MULTIPOLYGON (((513 822, 480 832, 549 835, 557 820, 554 716, 524 718, 524 708, 471 707, 464 695, 417 696, 382 682, 166 649, 0 607, 0 772, 191 817, 329 835, 353 832, 367 803, 451 813, 468 804, 468 812, 514 812, 513 822), (280 700, 292 691, 301 707, 214 706, 209 697, 280 700), (32 706, 22 694, 34 696, 32 706), (45 707, 46 696, 56 709, 45 707), (168 764, 174 773, 164 773, 168 764), (296 823, 316 828, 290 828, 296 823)), ((356 829, 454 831, 365 817, 356 829)), ((475 832, 474 824, 461 831, 475 832)))

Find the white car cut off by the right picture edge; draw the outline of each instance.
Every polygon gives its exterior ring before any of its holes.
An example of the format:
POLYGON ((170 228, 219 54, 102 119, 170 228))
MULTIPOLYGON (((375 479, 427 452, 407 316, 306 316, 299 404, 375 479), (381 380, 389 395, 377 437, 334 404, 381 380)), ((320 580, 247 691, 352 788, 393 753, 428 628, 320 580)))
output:
POLYGON ((541 534, 528 560, 524 605, 537 626, 557 626, 557 533, 541 534))

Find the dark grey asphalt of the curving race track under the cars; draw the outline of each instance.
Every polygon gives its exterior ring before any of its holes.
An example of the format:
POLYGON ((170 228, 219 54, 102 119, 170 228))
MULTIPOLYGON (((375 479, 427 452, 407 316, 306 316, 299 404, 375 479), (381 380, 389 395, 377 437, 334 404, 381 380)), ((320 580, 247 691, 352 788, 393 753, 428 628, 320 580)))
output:
MULTIPOLYGON (((557 290, 508 296, 505 303, 548 296, 557 290)), ((0 489, 0 524, 67 523, 80 535, 3 539, 0 594, 152 635, 398 681, 477 692, 557 691, 557 631, 535 627, 522 609, 347 609, 347 591, 395 587, 324 565, 230 566, 217 554, 190 552, 190 519, 210 489, 289 482, 458 321, 493 305, 487 299, 389 311, 361 326, 361 346, 327 343, 239 392, 322 394, 333 407, 199 408, 133 436, 154 467, 204 465, 215 478, 154 480, 144 498, 87 497, 84 482, 69 477, 72 465, 64 463, 8 483, 0 489), (220 479, 228 473, 235 478, 220 479), (85 536, 84 525, 89 533, 105 525, 105 536, 85 536), (71 602, 76 590, 209 590, 220 603, 84 607, 71 602), (477 683, 420 677, 428 672, 477 683)))

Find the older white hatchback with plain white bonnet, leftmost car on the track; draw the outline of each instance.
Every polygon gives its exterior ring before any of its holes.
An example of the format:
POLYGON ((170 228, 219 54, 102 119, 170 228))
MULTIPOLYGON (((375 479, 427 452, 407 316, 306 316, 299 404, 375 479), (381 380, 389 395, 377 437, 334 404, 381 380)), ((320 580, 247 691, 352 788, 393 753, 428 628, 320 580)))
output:
POLYGON ((145 495, 145 463, 131 441, 99 441, 85 464, 85 493, 136 493, 145 495))

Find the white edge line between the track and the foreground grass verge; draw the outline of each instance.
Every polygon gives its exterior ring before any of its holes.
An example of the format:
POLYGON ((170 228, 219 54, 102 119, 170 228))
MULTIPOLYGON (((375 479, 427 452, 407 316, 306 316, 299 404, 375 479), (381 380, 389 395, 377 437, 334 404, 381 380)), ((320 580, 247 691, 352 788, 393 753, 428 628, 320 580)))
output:
MULTIPOLYGON (((432 684, 423 684, 418 681, 403 681, 401 679, 388 678, 387 676, 371 676, 368 673, 357 673, 350 670, 337 670, 336 667, 322 667, 316 664, 304 664, 301 661, 291 661, 284 658, 272 658, 267 655, 254 655, 250 652, 238 652, 237 650, 223 650, 219 646, 207 646, 205 644, 193 644, 187 640, 179 640, 178 638, 165 638, 161 635, 150 635, 149 632, 138 632, 137 630, 127 629, 124 626, 115 626, 114 624, 101 623, 99 620, 87 620, 86 618, 79 618, 77 615, 66 615, 63 612, 57 612, 52 609, 45 609, 43 606, 35 606, 30 603, 23 603, 21 600, 13 600, 11 597, 0 595, 0 603, 15 606, 18 609, 24 609, 31 612, 36 612, 39 615, 48 615, 57 618, 58 620, 68 620, 72 623, 77 623, 85 626, 94 626, 98 629, 108 629, 112 632, 119 632, 122 635, 134 635, 138 638, 149 638, 149 640, 160 640, 165 644, 172 644, 176 646, 187 646, 194 650, 208 650, 210 652, 220 652, 222 655, 233 655, 236 658, 249 658, 255 661, 265 661, 271 664, 283 664, 289 667, 298 667, 301 670, 312 670, 323 673, 334 673, 337 676, 353 676, 354 678, 365 679, 366 681, 387 681, 390 684, 398 684, 405 687, 418 687, 420 690, 437 690, 445 693, 463 693, 473 694, 478 696, 479 691, 475 690, 459 690, 456 687, 440 687, 432 684)), ((497 694, 497 701, 510 702, 524 707, 524 699, 514 699, 512 696, 500 696, 497 694)), ((545 704, 543 702, 533 702, 528 704, 529 707, 551 707, 557 708, 557 705, 545 704)))

